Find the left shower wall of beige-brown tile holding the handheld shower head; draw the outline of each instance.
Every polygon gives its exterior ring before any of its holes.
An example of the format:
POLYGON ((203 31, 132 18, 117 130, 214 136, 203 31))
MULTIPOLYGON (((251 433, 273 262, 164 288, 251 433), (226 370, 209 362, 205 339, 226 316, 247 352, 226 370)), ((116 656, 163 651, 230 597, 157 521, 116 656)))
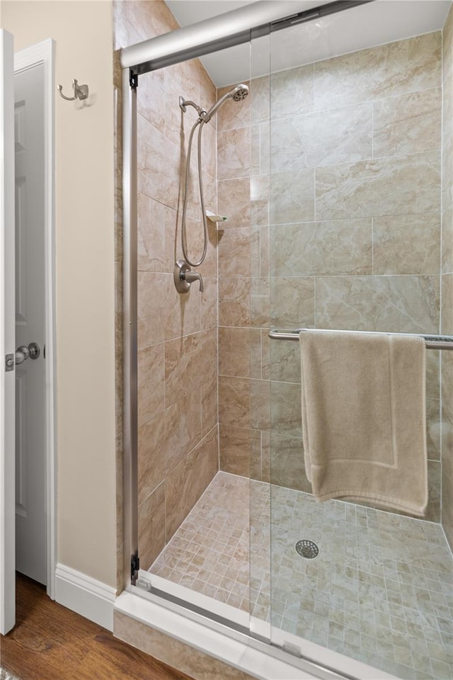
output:
MULTIPOLYGON (((161 0, 115 1, 115 50, 178 28, 161 0)), ((173 268, 180 250, 183 174, 195 109, 216 89, 198 60, 144 74, 138 108, 138 446, 139 555, 147 569, 218 469, 217 232, 209 229, 205 293, 180 295, 173 268)), ((206 207, 217 212, 215 121, 203 130, 206 207)), ((196 149, 196 145, 195 145, 196 149)), ((189 254, 202 249, 196 154, 188 200, 189 254)))

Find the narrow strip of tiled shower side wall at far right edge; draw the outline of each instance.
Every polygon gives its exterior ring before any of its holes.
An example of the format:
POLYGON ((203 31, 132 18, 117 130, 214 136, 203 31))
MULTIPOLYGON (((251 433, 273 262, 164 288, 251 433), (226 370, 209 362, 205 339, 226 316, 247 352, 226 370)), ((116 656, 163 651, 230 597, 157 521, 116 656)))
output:
MULTIPOLYGON (((442 333, 453 334, 453 11, 443 30, 442 333)), ((442 526, 453 550, 453 356, 442 353, 442 526)))

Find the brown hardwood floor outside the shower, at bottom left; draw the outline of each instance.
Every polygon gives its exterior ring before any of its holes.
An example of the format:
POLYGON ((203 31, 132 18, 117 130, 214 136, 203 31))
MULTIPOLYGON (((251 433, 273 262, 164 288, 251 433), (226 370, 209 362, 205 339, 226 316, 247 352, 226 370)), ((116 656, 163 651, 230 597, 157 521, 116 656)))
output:
POLYGON ((21 574, 16 621, 0 639, 0 678, 8 678, 3 668, 18 680, 191 680, 52 602, 21 574))

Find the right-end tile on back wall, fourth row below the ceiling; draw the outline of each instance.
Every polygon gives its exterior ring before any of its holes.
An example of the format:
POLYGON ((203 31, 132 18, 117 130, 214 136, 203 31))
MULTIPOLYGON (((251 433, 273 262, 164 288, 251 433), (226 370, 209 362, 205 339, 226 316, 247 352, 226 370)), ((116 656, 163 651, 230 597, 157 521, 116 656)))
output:
POLYGON ((374 274, 439 273, 440 212, 373 220, 374 274))

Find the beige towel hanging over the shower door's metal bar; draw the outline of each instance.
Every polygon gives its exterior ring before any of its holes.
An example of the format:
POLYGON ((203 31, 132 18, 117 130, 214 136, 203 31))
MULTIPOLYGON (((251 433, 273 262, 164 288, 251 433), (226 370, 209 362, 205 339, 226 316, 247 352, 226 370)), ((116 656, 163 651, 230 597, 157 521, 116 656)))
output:
POLYGON ((316 498, 347 497, 423 516, 423 339, 308 330, 300 346, 305 468, 316 498))

